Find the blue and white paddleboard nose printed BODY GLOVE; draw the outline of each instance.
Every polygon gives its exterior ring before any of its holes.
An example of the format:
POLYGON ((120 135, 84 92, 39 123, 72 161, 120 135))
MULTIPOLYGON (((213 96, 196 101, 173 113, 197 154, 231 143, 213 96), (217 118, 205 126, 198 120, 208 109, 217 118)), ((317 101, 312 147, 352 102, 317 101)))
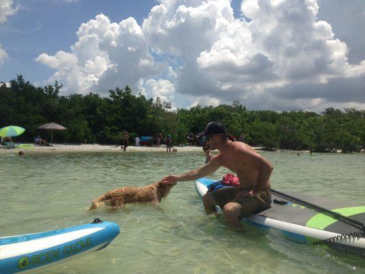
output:
POLYGON ((119 226, 92 223, 49 232, 0 238, 0 273, 36 273, 103 249, 119 234, 119 226))

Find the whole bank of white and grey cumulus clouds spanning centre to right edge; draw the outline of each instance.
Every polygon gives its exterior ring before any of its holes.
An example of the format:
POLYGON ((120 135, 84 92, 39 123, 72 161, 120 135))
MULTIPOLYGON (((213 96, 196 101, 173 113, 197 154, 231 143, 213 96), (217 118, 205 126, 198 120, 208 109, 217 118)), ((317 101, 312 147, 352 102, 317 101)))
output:
POLYGON ((128 84, 168 101, 187 95, 190 105, 361 106, 365 60, 349 63, 349 47, 318 20, 319 8, 315 0, 245 0, 243 19, 229 0, 160 0, 142 27, 99 14, 79 27, 70 53, 36 60, 68 92, 128 84))

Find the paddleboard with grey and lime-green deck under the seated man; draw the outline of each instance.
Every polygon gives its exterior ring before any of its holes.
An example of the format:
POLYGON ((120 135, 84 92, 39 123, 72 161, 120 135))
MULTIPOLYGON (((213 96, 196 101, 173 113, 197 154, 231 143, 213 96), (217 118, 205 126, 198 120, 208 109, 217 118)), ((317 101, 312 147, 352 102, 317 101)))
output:
MULTIPOLYGON (((195 181, 195 188, 200 197, 205 195, 207 186, 213 182, 216 182, 216 180, 209 178, 201 178, 195 181)), ((288 194, 327 210, 338 212, 360 223, 365 223, 364 205, 358 206, 354 203, 323 199, 301 193, 288 194)), ((318 242, 323 243, 321 241, 331 238, 331 240, 325 242, 325 245, 331 249, 365 258, 365 235, 362 235, 361 229, 303 206, 303 204, 286 199, 281 195, 271 193, 271 197, 273 202, 270 208, 242 219, 242 223, 249 222, 260 227, 279 229, 291 240, 312 245, 318 242), (347 236, 344 236, 344 234, 347 234, 347 236)), ((218 208, 218 210, 221 209, 218 208)))

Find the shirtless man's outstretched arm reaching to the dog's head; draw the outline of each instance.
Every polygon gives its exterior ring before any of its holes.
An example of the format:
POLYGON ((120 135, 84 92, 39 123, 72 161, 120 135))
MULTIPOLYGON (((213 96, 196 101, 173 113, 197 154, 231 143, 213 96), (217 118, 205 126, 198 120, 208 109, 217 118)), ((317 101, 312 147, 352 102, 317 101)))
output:
POLYGON ((168 175, 162 179, 162 182, 164 184, 174 184, 175 182, 192 181, 214 173, 214 171, 221 167, 221 165, 218 164, 218 161, 214 159, 215 157, 207 164, 200 166, 198 169, 188 171, 187 173, 181 175, 168 175))

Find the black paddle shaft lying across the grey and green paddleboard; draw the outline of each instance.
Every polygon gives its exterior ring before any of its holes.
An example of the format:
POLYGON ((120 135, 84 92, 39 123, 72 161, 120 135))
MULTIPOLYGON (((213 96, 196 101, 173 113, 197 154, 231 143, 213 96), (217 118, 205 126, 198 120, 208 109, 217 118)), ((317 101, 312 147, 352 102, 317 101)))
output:
POLYGON ((301 199, 298 199, 296 197, 292 197, 286 193, 280 192, 278 190, 275 190, 271 188, 271 192, 275 193, 276 195, 279 195, 281 197, 284 197, 286 199, 289 199, 291 201, 295 201, 296 203, 299 203, 303 206, 306 206, 307 208, 312 208, 313 210, 316 210, 320 213, 326 214, 328 216, 331 216, 334 219, 340 220, 344 223, 347 223, 348 225, 351 225, 352 227, 355 227, 357 229, 360 229, 362 232, 365 233, 365 225, 364 223, 361 223, 359 221, 356 221, 354 219, 348 218, 347 216, 344 216, 338 212, 333 212, 331 210, 327 210, 327 208, 322 208, 320 206, 314 205, 313 203, 309 203, 307 201, 303 201, 301 199))

